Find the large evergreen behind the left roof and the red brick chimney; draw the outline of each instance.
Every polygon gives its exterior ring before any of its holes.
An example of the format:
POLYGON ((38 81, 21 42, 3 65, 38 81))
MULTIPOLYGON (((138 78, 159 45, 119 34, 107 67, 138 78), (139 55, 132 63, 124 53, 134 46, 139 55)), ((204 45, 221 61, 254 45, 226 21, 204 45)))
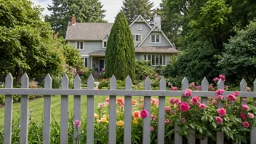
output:
POLYGON ((71 16, 76 15, 78 23, 105 23, 103 20, 103 4, 99 0, 52 0, 52 6, 47 8, 52 12, 45 16, 45 21, 51 23, 52 29, 65 37, 68 22, 71 16))

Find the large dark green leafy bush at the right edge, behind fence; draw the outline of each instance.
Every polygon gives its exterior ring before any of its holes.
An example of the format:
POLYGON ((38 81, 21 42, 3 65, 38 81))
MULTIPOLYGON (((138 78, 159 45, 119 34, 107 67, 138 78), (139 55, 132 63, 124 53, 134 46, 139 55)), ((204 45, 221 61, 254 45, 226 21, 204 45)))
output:
POLYGON ((218 66, 228 80, 238 84, 244 78, 248 84, 252 84, 256 71, 256 21, 236 33, 225 44, 225 52, 220 56, 218 66))

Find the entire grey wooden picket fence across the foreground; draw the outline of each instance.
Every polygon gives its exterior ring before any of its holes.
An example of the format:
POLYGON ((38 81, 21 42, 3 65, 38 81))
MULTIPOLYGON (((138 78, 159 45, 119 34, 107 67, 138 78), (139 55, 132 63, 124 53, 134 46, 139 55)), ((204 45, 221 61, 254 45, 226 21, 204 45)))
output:
MULTIPOLYGON (((94 143, 94 96, 95 95, 109 95, 110 96, 110 116, 109 116, 109 135, 108 143, 116 143, 116 95, 125 96, 124 105, 124 144, 131 144, 131 124, 132 124, 132 96, 144 96, 144 108, 148 111, 149 116, 143 119, 143 144, 149 144, 151 141, 151 96, 159 96, 159 119, 157 129, 157 143, 164 144, 164 115, 165 115, 165 97, 172 97, 183 95, 185 89, 188 88, 188 79, 184 78, 182 81, 182 91, 167 91, 166 81, 164 78, 159 83, 159 90, 151 90, 151 81, 149 78, 145 79, 145 90, 132 90, 132 80, 127 76, 125 81, 125 90, 116 90, 116 78, 112 76, 110 89, 94 90, 94 79, 89 76, 87 81, 87 89, 81 89, 81 80, 76 76, 74 81, 74 89, 68 89, 68 76, 64 75, 61 82, 61 89, 52 89, 52 79, 47 74, 44 81, 44 89, 29 89, 28 75, 24 73, 22 76, 21 88, 12 88, 12 75, 6 77, 6 88, 0 89, 0 95, 6 95, 4 108, 4 144, 12 142, 12 95, 22 95, 20 106, 20 143, 28 143, 28 95, 44 95, 44 130, 43 143, 50 143, 50 121, 51 121, 51 95, 61 95, 61 118, 60 118, 60 143, 68 143, 68 95, 74 95, 74 119, 81 119, 81 95, 87 95, 87 144, 94 143)), ((201 81, 201 90, 193 92, 193 96, 201 97, 201 103, 208 104, 207 98, 215 95, 215 92, 208 92, 209 83, 206 78, 201 81)), ((247 92, 247 82, 244 79, 240 83, 240 97, 254 97, 254 105, 256 101, 256 81, 254 82, 254 91, 247 92)), ((218 81, 217 89, 224 89, 224 82, 218 81)), ((232 92, 225 92, 223 95, 229 95, 232 92)), ((180 127, 175 126, 175 144, 180 144, 183 137, 178 134, 180 127)), ((79 135, 80 129, 75 131, 73 137, 79 135)), ((256 143, 256 128, 252 127, 250 131, 250 144, 256 143)), ((201 144, 207 143, 207 137, 201 140, 201 144)), ((75 143, 75 141, 73 141, 75 143)), ((196 138, 189 133, 188 143, 196 143, 196 138)), ((224 143, 224 133, 217 132, 217 144, 224 143)))

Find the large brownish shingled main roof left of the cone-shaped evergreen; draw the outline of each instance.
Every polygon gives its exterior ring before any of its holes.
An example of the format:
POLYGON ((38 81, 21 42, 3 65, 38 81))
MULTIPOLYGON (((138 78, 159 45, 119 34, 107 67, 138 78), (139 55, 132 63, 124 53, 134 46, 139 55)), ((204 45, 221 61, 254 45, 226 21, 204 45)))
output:
POLYGON ((68 23, 65 40, 100 41, 111 32, 113 23, 68 23))

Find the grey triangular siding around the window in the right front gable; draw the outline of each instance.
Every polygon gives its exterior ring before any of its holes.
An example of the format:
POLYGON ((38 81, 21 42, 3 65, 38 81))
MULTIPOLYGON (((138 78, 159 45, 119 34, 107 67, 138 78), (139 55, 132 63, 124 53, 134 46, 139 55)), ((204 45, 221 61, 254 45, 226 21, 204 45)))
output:
POLYGON ((161 32, 152 32, 147 39, 141 44, 140 46, 155 46, 155 47, 172 47, 169 42, 164 38, 161 32), (161 43, 160 44, 151 44, 151 35, 153 34, 160 34, 161 43))

